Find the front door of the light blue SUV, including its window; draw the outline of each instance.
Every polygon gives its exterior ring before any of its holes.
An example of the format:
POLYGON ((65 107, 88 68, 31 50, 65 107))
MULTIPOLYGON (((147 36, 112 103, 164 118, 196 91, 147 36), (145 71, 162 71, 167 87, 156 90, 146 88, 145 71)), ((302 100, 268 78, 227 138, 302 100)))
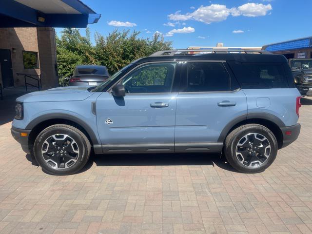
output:
POLYGON ((120 81, 126 96, 111 92, 97 99, 98 134, 104 153, 173 152, 176 62, 148 63, 120 81))

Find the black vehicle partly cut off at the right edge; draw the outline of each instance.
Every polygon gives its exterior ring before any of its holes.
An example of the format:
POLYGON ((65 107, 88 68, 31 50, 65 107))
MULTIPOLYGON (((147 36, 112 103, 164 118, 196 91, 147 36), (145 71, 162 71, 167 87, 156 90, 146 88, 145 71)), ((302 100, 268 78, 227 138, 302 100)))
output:
POLYGON ((312 59, 289 59, 289 65, 300 94, 312 96, 312 59))

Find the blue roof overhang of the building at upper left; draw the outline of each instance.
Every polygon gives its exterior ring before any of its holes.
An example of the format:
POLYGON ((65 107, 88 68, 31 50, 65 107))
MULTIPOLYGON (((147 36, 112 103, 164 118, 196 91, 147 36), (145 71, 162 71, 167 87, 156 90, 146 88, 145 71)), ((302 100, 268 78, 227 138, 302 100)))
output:
POLYGON ((80 0, 1 0, 0 27, 85 28, 100 16, 80 0))

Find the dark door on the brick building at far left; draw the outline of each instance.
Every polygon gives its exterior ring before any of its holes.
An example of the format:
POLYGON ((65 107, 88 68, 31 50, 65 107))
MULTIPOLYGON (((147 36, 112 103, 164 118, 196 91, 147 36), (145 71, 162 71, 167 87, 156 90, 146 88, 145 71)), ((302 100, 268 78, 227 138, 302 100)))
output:
POLYGON ((14 80, 10 50, 0 49, 0 67, 3 88, 13 87, 14 80))

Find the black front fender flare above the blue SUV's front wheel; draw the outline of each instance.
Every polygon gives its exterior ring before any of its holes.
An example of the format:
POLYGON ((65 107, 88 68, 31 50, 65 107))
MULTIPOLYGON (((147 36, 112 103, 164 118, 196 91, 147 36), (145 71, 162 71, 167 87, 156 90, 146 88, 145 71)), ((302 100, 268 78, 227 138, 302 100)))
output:
POLYGON ((46 120, 51 120, 51 119, 63 119, 63 120, 69 120, 72 122, 77 123, 78 125, 80 125, 89 135, 90 139, 92 142, 90 142, 93 145, 97 145, 98 143, 98 138, 96 136, 96 133, 92 130, 92 128, 83 120, 81 120, 78 117, 72 116, 70 114, 66 114, 66 113, 49 113, 49 114, 44 114, 42 116, 39 116, 35 119, 33 119, 32 121, 30 121, 27 126, 26 129, 34 129, 38 124, 46 121, 46 120))

